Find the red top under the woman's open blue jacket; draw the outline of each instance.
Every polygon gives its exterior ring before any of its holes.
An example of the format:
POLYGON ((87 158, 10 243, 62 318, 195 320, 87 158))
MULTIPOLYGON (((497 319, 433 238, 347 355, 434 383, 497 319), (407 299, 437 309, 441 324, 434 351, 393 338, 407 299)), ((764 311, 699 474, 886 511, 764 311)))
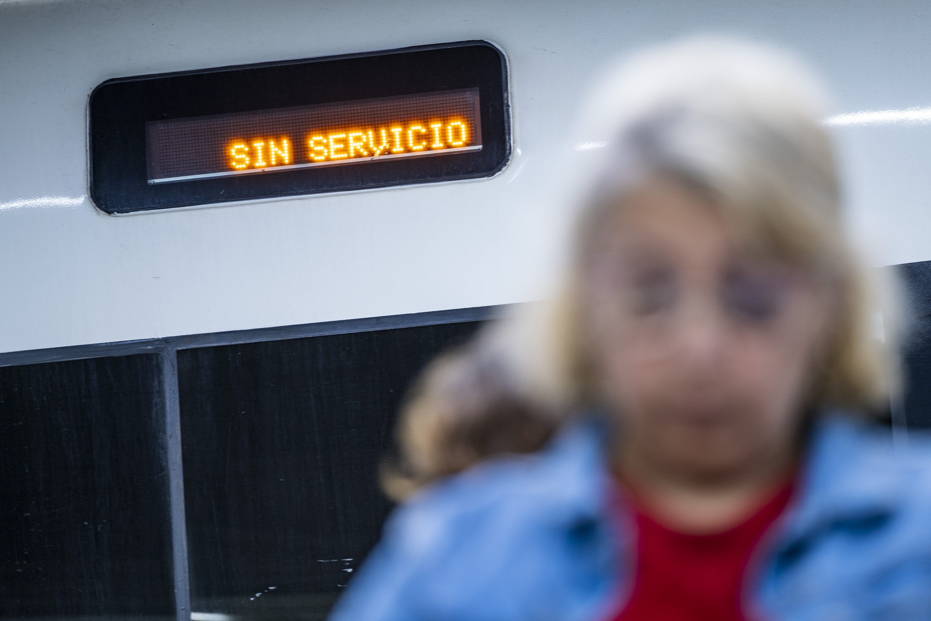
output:
POLYGON ((789 504, 791 482, 724 533, 670 531, 637 511, 637 576, 614 621, 747 621, 743 578, 763 533, 789 504))

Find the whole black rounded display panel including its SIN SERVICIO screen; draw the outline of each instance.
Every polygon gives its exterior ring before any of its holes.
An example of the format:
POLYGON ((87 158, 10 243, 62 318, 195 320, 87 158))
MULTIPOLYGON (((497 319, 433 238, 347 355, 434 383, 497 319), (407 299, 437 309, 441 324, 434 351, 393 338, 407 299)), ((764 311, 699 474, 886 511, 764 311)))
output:
POLYGON ((108 213, 485 177, 510 156, 506 61, 468 41, 120 78, 89 128, 108 213))

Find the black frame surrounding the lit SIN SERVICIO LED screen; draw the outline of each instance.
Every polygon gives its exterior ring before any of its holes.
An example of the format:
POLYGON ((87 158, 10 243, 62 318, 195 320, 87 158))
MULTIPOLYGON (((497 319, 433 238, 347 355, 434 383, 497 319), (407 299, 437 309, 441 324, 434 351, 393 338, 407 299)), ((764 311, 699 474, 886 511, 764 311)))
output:
POLYGON ((112 214, 489 177, 511 151, 507 64, 492 44, 462 41, 117 78, 91 93, 89 132, 90 196, 112 214), (479 88, 477 152, 164 184, 147 179, 147 121, 459 88, 479 88))

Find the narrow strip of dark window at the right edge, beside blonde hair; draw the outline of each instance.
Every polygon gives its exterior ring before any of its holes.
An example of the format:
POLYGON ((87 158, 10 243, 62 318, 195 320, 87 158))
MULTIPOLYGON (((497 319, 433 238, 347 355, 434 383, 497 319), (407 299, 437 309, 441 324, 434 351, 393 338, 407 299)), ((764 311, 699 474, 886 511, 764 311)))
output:
POLYGON ((905 334, 905 420, 910 428, 931 427, 931 261, 898 266, 911 306, 905 334))

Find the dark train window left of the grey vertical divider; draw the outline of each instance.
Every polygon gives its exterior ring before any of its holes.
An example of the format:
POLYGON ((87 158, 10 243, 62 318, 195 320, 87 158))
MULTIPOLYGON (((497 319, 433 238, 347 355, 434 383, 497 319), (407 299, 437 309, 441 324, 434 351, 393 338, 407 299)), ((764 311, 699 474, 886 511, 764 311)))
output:
POLYGON ((0 368, 0 618, 174 616, 160 370, 0 368))

